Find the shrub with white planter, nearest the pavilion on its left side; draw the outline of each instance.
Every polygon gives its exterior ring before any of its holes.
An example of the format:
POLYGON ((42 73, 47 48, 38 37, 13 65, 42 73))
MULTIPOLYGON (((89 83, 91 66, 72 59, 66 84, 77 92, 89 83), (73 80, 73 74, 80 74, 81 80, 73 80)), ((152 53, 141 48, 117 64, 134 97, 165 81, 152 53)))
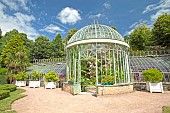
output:
POLYGON ((59 81, 57 74, 54 71, 50 71, 45 74, 45 89, 46 88, 56 88, 56 82, 59 81))

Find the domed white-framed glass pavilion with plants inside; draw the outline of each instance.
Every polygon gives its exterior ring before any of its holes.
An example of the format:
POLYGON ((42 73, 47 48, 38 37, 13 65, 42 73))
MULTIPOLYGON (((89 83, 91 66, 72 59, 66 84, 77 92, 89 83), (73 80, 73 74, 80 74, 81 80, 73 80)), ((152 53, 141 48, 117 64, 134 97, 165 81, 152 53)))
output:
MULTIPOLYGON (((82 85, 120 86, 130 83, 129 45, 106 25, 92 24, 78 30, 66 46, 67 81, 73 93, 82 85), (107 77, 112 84, 105 84, 107 77)), ((99 90, 99 89, 97 89, 99 90)))

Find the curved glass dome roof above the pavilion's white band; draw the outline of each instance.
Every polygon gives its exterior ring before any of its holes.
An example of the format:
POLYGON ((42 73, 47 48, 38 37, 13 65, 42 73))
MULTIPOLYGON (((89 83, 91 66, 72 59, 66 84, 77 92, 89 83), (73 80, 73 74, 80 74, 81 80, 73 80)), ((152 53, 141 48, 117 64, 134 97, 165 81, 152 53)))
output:
POLYGON ((124 42, 122 36, 111 27, 101 24, 92 24, 78 30, 70 38, 68 44, 89 39, 112 39, 124 42))

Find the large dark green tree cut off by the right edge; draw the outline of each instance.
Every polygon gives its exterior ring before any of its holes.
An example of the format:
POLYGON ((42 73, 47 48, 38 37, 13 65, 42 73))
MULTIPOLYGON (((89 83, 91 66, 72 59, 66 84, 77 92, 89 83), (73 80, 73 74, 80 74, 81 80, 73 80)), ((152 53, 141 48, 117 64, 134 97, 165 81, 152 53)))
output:
POLYGON ((170 15, 163 14, 158 17, 153 27, 155 44, 170 47, 170 15))

